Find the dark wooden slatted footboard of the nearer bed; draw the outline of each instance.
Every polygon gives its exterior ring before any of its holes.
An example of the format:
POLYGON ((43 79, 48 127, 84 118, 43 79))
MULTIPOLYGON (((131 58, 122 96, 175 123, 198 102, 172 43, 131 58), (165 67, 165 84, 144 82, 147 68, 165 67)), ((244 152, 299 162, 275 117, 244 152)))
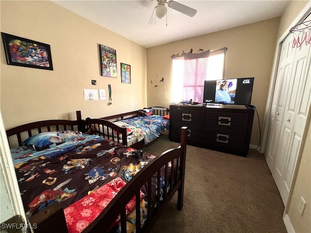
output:
POLYGON ((167 150, 160 156, 156 157, 152 162, 144 166, 137 175, 135 175, 115 196, 115 198, 106 206, 104 211, 89 225, 83 233, 87 232, 106 232, 109 230, 111 224, 120 215, 121 216, 121 232, 126 233, 126 204, 135 196, 136 198, 136 216, 140 216, 140 189, 147 185, 148 197, 151 197, 151 179, 157 177, 157 193, 160 193, 160 176, 161 168, 164 167, 164 180, 169 181, 170 188, 168 189, 168 182, 165 182, 163 200, 160 196, 156 196, 156 204, 152 206, 151 201, 148 201, 147 219, 145 224, 141 227, 140 221, 136 221, 136 232, 149 232, 155 221, 163 212, 163 208, 172 199, 176 191, 178 191, 177 208, 181 210, 183 207, 183 192, 185 179, 185 164, 186 164, 186 147, 187 147, 187 127, 182 127, 181 130, 181 145, 178 148, 167 150), (169 163, 171 167, 169 168, 169 163), (155 207, 156 206, 156 207, 155 207))

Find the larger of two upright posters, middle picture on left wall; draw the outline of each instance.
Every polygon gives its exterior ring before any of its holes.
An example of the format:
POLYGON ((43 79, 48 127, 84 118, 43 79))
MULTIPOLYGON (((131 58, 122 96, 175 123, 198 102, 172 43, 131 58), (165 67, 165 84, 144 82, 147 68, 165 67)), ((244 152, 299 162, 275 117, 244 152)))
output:
POLYGON ((99 45, 102 76, 117 78, 117 51, 99 45))

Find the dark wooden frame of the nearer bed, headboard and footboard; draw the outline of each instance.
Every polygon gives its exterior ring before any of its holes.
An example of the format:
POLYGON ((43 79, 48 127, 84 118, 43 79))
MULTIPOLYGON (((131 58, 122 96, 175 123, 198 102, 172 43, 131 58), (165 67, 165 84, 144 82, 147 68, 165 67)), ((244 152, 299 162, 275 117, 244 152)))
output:
MULTIPOLYGON (((17 141, 18 145, 21 145, 25 137, 35 135, 36 133, 47 132, 52 130, 85 130, 90 124, 103 124, 113 131, 126 135, 124 128, 106 121, 104 119, 81 119, 81 112, 77 111, 78 120, 44 120, 37 121, 21 126, 17 126, 13 129, 6 131, 9 142, 12 140, 17 141), (80 119, 79 119, 80 116, 80 119)), ((98 132, 100 133, 100 132, 98 132)), ((126 138, 126 137, 122 137, 126 138)), ((121 143, 124 143, 122 139, 121 143)), ((11 145, 11 144, 10 144, 11 145)), ((10 146, 11 147, 11 146, 10 146)), ((17 147, 17 146, 14 146, 17 147)), ((121 216, 121 232, 126 233, 126 215, 125 206, 136 196, 136 213, 140 215, 139 205, 139 190, 147 184, 148 185, 148 197, 151 196, 151 178, 157 176, 157 193, 160 193, 160 169, 165 167, 165 180, 170 182, 170 189, 167 189, 167 183, 165 182, 165 192, 163 194, 163 200, 157 196, 156 207, 152 207, 150 201, 148 201, 148 213, 145 224, 140 227, 140 221, 137 221, 136 232, 149 232, 152 226, 155 224, 156 219, 161 215, 165 206, 172 199, 173 195, 178 191, 177 209, 181 210, 183 207, 183 193, 184 193, 184 179, 185 179, 185 166, 186 166, 186 147, 187 147, 187 127, 182 127, 181 130, 181 142, 178 148, 167 150, 160 156, 156 157, 152 162, 144 166, 137 175, 134 176, 113 198, 113 200, 104 208, 102 213, 83 231, 87 232, 107 232, 117 218, 121 216), (168 172, 168 165, 172 164, 172 167, 177 169, 171 169, 168 172), (171 173, 171 174, 168 174, 171 173)), ((58 202, 54 202, 48 206, 45 210, 35 214, 29 219, 32 225, 36 224, 36 229, 33 231, 36 233, 54 233, 54 232, 67 232, 67 225, 64 216, 64 212, 58 202)))

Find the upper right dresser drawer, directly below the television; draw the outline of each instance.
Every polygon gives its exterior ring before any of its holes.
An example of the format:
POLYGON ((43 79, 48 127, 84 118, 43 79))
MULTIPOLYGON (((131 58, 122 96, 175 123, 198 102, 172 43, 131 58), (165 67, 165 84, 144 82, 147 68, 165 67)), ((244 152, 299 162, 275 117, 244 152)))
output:
POLYGON ((206 119, 248 122, 248 114, 228 112, 205 112, 206 119))

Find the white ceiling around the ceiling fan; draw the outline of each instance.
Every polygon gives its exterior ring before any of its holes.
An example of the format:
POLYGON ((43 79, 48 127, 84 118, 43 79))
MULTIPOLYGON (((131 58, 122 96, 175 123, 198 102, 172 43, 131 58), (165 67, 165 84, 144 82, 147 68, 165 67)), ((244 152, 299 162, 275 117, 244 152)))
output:
MULTIPOLYGON (((149 25, 157 0, 53 0, 68 10, 145 47, 279 17, 288 0, 176 0, 197 10, 194 17, 168 7, 149 25)), ((268 32, 266 32, 268 33, 268 32)))

